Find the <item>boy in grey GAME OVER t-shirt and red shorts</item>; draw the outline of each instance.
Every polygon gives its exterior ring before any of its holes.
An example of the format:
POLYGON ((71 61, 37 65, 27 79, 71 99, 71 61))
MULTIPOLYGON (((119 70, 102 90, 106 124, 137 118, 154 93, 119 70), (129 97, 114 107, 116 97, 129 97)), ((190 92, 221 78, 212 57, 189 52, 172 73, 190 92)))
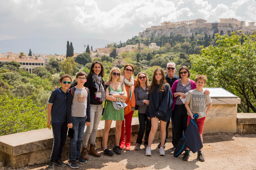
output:
MULTIPOLYGON (((203 90, 203 87, 205 86, 205 82, 207 80, 207 77, 205 75, 197 75, 196 76, 196 88, 194 90, 188 91, 188 94, 186 96, 185 101, 185 107, 188 111, 188 122, 187 126, 190 123, 191 119, 193 118, 193 115, 198 114, 199 117, 197 119, 197 127, 198 131, 201 137, 201 141, 203 143, 203 126, 204 126, 204 120, 207 115, 207 113, 210 111, 212 107, 212 100, 209 95, 205 95, 203 90), (206 104, 208 103, 208 107, 206 104)), ((183 160, 188 160, 189 157, 189 148, 185 150, 185 154, 183 156, 183 160)), ((199 161, 204 161, 204 156, 201 153, 201 149, 197 152, 197 158, 199 161)))

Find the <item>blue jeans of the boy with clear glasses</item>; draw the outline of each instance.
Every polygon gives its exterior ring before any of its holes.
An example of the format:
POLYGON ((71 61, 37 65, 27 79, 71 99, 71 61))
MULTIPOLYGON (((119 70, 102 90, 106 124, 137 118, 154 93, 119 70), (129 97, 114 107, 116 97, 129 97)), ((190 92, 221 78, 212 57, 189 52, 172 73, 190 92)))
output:
POLYGON ((81 117, 71 117, 74 132, 74 138, 69 140, 69 159, 76 160, 81 156, 81 140, 84 134, 86 116, 81 117))

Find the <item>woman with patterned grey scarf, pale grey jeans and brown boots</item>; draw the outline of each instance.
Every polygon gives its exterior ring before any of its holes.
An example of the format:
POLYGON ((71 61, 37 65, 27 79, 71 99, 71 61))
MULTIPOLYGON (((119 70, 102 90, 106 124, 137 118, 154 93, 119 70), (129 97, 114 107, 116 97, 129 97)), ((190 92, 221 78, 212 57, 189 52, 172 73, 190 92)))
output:
POLYGON ((90 138, 89 153, 93 156, 100 157, 101 155, 95 150, 96 147, 96 134, 98 125, 100 123, 103 105, 105 101, 105 83, 102 79, 104 76, 104 67, 99 61, 94 61, 91 65, 90 72, 87 77, 87 82, 84 86, 90 90, 90 104, 91 104, 91 124, 86 127, 82 143, 81 156, 88 160, 87 144, 90 138))

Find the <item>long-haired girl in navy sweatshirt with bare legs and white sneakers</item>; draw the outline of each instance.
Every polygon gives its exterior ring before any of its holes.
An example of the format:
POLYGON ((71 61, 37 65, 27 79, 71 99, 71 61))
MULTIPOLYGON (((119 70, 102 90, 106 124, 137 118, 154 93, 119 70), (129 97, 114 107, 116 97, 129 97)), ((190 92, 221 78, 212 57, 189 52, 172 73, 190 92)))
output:
POLYGON ((151 119, 151 131, 148 138, 148 147, 146 148, 146 156, 151 156, 151 144, 153 142, 158 122, 160 120, 161 130, 161 147, 159 155, 165 156, 164 142, 166 137, 166 124, 170 122, 172 116, 172 92, 170 85, 166 82, 164 71, 157 68, 152 77, 152 83, 148 90, 150 105, 147 107, 147 118, 151 119))

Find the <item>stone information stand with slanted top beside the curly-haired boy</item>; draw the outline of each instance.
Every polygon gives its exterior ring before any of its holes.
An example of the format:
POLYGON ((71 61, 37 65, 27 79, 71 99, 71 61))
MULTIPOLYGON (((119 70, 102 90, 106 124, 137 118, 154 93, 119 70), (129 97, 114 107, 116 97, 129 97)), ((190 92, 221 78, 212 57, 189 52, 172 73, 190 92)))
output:
POLYGON ((204 88, 210 91, 212 107, 204 122, 203 133, 236 132, 237 104, 241 99, 223 88, 204 88))

